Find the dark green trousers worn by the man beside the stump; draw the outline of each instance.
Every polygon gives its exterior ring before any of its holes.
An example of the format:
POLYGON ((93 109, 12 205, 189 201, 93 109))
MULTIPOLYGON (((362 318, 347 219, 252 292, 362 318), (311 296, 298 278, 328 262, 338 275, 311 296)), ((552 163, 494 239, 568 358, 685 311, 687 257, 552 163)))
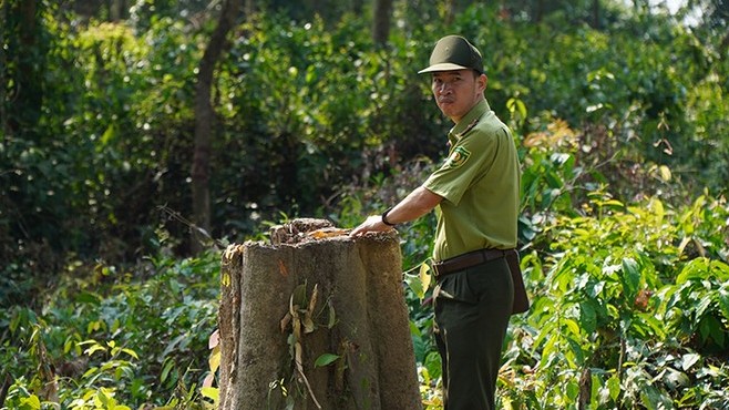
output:
POLYGON ((441 277, 434 334, 443 365, 444 410, 492 410, 514 299, 506 259, 441 277))

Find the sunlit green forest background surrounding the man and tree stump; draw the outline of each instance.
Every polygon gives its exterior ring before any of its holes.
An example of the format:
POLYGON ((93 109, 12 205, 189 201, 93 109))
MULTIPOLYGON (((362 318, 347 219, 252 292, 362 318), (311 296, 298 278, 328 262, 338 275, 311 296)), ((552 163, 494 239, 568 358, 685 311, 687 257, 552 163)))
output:
MULTIPOLYGON (((220 249, 418 186, 446 33, 523 167, 500 408, 728 408, 726 0, 0 1, 0 407, 214 407, 220 249)), ((439 409, 433 218, 400 230, 439 409)))

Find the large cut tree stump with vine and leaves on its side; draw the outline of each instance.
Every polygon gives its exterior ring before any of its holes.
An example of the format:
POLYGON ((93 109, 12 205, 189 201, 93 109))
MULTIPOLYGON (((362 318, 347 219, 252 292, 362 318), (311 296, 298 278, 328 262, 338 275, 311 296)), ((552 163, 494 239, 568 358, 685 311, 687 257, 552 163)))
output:
POLYGON ((219 408, 420 409, 397 234, 296 219, 270 237, 223 256, 219 408))

